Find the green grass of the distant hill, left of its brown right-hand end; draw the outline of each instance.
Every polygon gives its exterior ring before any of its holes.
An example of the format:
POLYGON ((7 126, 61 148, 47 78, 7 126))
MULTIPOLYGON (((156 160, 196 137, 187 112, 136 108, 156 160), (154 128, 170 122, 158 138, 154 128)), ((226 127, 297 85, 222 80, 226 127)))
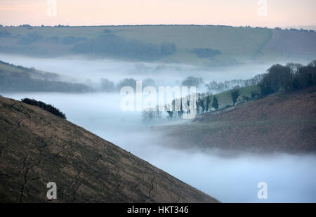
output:
MULTIPOLYGON (((216 27, 216 26, 109 26, 109 27, 0 27, 0 32, 10 32, 12 36, 37 32, 44 37, 86 37, 94 39, 105 29, 124 39, 143 41, 149 44, 164 42, 176 44, 176 53, 163 58, 164 62, 197 63, 244 60, 253 58, 271 37, 271 29, 216 27), (209 60, 198 58, 189 51, 193 48, 213 48, 222 54, 209 60)), ((13 46, 16 41, 13 41, 13 46)), ((6 43, 7 44, 7 43, 6 43)), ((1 44, 0 46, 4 44, 1 44)), ((40 46, 34 44, 34 46, 40 46)), ((46 48, 46 46, 42 46, 46 48)), ((205 64, 204 64, 205 65, 205 64)))

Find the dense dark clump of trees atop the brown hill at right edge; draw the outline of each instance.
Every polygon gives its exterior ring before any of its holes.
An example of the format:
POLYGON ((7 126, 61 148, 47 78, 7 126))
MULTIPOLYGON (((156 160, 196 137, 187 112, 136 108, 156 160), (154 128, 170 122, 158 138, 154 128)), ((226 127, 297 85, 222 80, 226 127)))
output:
POLYGON ((296 63, 273 65, 258 85, 261 88, 261 96, 268 96, 278 91, 296 91, 315 84, 316 60, 306 66, 296 63))

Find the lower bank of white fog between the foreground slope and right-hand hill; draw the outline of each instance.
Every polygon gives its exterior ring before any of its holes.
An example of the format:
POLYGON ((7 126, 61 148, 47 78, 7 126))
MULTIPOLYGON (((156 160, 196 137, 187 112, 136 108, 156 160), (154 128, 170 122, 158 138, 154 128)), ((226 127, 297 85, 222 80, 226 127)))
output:
POLYGON ((173 150, 143 124, 140 112, 121 112, 118 94, 6 93, 51 103, 67 119, 145 159, 221 202, 316 202, 316 156, 274 154, 220 157, 196 150, 173 150), (268 199, 257 185, 268 184, 268 199))

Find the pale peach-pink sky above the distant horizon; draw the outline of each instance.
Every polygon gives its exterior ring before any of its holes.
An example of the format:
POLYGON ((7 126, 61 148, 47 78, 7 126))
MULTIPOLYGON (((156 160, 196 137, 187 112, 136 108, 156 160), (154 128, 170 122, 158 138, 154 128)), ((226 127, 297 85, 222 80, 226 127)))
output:
POLYGON ((315 0, 0 0, 1 25, 316 25, 315 0))

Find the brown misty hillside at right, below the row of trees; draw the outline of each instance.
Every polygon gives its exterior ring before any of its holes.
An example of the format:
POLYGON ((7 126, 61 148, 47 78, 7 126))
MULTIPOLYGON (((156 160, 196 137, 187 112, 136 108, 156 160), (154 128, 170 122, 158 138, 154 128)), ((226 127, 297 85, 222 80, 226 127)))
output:
POLYGON ((277 93, 162 129, 179 148, 251 152, 316 152, 316 88, 277 93))

